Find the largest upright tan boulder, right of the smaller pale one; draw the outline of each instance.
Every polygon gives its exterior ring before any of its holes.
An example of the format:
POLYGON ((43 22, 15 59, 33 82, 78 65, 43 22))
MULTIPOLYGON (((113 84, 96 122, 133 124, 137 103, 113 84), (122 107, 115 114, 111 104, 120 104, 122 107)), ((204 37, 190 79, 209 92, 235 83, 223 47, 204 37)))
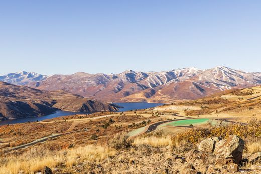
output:
POLYGON ((242 160, 243 149, 244 141, 236 135, 230 135, 223 144, 215 149, 216 163, 220 165, 239 164, 242 160))

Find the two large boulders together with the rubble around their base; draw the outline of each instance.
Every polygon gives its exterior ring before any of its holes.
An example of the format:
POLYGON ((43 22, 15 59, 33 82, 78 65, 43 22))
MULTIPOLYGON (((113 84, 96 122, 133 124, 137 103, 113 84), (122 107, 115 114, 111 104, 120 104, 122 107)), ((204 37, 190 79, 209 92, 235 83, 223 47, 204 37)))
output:
POLYGON ((198 144, 198 151, 191 150, 185 154, 185 157, 186 161, 198 172, 237 172, 238 165, 242 161, 243 149, 244 141, 238 136, 231 135, 222 140, 213 137, 201 141, 198 144))

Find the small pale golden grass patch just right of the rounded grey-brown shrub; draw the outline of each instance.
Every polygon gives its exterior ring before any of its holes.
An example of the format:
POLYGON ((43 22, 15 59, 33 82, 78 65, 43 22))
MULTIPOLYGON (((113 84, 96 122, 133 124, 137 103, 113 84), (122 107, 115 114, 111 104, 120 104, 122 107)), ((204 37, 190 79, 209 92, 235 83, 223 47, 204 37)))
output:
POLYGON ((171 146, 172 139, 170 137, 138 137, 134 140, 133 145, 150 145, 152 147, 163 147, 163 146, 171 146))

